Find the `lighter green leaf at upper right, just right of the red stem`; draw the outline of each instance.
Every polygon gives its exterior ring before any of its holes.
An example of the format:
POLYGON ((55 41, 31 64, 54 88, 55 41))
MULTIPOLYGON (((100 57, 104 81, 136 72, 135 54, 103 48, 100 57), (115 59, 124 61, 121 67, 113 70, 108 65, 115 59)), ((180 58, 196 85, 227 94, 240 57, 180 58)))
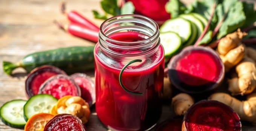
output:
POLYGON ((227 34, 232 33, 237 28, 241 27, 246 19, 243 4, 241 1, 235 2, 233 4, 225 4, 225 1, 230 0, 224 0, 223 9, 224 11, 226 9, 229 10, 227 12, 226 19, 223 21, 221 27, 219 28, 219 34, 217 36, 217 39, 220 39, 221 37, 226 36, 227 34))

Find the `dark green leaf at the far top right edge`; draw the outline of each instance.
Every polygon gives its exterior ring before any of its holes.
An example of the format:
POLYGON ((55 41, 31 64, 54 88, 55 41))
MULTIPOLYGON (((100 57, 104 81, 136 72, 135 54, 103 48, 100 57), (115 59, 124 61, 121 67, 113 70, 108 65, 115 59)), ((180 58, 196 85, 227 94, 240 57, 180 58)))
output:
POLYGON ((246 21, 244 22, 244 25, 242 28, 245 28, 252 25, 256 21, 256 11, 254 10, 253 3, 243 2, 243 6, 244 6, 244 13, 246 16, 246 21))

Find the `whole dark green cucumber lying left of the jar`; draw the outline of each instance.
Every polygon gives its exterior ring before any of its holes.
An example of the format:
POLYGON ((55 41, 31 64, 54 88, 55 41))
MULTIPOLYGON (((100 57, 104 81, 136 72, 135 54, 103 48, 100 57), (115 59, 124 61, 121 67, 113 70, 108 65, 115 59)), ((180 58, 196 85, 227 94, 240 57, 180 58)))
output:
POLYGON ((54 65, 67 73, 85 71, 94 68, 94 46, 73 46, 26 55, 20 62, 3 61, 3 70, 12 74, 15 68, 22 67, 31 71, 41 65, 54 65))

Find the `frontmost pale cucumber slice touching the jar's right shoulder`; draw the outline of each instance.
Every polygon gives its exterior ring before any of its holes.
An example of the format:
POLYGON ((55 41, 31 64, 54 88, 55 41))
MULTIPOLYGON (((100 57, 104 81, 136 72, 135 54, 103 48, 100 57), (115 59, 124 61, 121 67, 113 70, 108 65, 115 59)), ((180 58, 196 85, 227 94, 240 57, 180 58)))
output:
POLYGON ((181 47, 181 38, 177 33, 171 31, 160 33, 160 40, 165 50, 165 58, 171 58, 181 47))

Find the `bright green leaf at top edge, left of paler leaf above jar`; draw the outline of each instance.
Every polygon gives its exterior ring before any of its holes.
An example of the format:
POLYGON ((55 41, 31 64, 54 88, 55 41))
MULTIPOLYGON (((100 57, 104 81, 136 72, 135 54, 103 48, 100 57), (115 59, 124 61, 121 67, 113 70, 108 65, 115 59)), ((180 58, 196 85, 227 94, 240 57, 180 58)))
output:
POLYGON ((102 0, 102 9, 110 15, 120 15, 120 8, 117 6, 117 0, 102 0))

